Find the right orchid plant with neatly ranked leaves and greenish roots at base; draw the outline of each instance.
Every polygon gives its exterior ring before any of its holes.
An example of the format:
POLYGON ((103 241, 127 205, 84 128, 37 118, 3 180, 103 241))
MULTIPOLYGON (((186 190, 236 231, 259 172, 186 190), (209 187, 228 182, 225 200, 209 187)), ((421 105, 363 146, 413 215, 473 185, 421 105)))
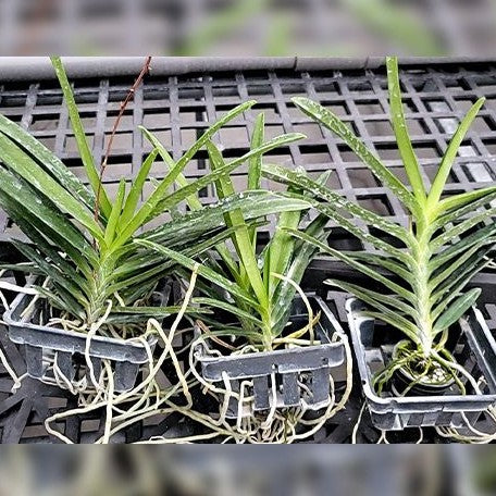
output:
MULTIPOLYGON (((310 243, 376 282, 377 286, 372 288, 327 281, 363 300, 370 309, 368 315, 398 328, 408 338, 401 343, 398 358, 377 377, 379 387, 399 367, 409 369, 414 377, 431 379, 431 383, 436 372, 439 376, 439 370, 445 372, 445 380, 457 380, 456 371, 462 371, 445 344, 451 324, 463 315, 481 293, 478 288, 467 292, 464 288, 470 278, 489 262, 488 252, 496 240, 493 219, 496 208, 492 206, 496 187, 449 196, 443 196, 443 190, 457 150, 484 99, 478 100, 461 121, 434 181, 427 185, 409 138, 395 58, 387 59, 387 79, 390 117, 408 184, 394 175, 332 112, 306 98, 294 98, 293 101, 312 120, 344 139, 377 179, 396 195, 409 214, 408 226, 397 225, 348 201, 298 172, 264 165, 263 173, 269 178, 312 194, 313 208, 364 245, 373 247, 373 251, 337 251, 308 233, 287 230, 296 238, 310 243), (360 226, 363 224, 395 238, 395 243, 370 234, 360 226)), ((461 382, 457 382, 464 390, 461 382)))

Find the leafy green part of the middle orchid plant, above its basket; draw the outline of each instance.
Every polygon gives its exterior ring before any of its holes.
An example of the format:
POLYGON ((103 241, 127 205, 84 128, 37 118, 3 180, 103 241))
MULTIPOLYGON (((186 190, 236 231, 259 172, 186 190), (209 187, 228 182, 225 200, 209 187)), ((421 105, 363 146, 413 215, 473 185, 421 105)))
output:
MULTIPOLYGON (((260 114, 251 142, 255 149, 263 142, 263 114, 260 114)), ((158 144, 156 146, 159 147, 158 144)), ((224 170, 226 162, 219 148, 209 141, 207 149, 212 173, 224 170)), ((261 168, 261 156, 253 156, 249 162, 248 191, 260 189, 261 168)), ((325 183, 326 176, 324 174, 319 182, 325 183)), ((184 184, 184 177, 181 177, 179 185, 184 184)), ((221 201, 235 195, 232 178, 227 174, 215 179, 215 188, 221 201)), ((287 324, 293 299, 296 292, 300 292, 298 284, 318 251, 315 247, 299 241, 285 232, 286 228, 298 228, 303 212, 310 207, 305 195, 297 198, 294 195, 296 191, 302 194, 299 189, 293 190, 293 188, 289 194, 280 194, 286 199, 286 209, 278 213, 275 234, 260 255, 257 253, 259 239, 257 225, 249 225, 240 209, 233 209, 224 214, 225 223, 232 230, 231 241, 236 257, 225 243, 216 245, 211 250, 215 251, 216 257, 209 257, 198 268, 198 274, 213 284, 198 283, 198 287, 206 296, 194 299, 201 306, 227 311, 240 323, 240 328, 236 328, 235 325, 214 322, 218 334, 243 336, 250 345, 263 350, 272 350, 281 344, 278 339, 287 324)), ((191 201, 190 206, 195 207, 198 200, 191 201)), ((275 208, 273 213, 277 213, 275 208)), ((303 232, 323 241, 328 235, 324 231, 326 223, 327 218, 319 215, 303 232)), ((148 240, 137 240, 137 243, 156 249, 186 269, 191 270, 196 263, 193 257, 178 253, 168 247, 148 240)), ((301 330, 293 337, 297 339, 306 331, 308 328, 301 330)))

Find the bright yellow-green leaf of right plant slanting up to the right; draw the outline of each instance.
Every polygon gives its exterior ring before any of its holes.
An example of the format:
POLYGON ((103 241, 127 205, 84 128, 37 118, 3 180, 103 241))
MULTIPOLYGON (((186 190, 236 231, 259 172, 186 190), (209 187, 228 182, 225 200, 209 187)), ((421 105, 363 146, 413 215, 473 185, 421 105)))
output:
POLYGON ((469 110, 467 115, 464 116, 463 121, 461 121, 460 125, 458 126, 457 132, 455 133, 451 141, 446 149, 445 154, 443 156, 443 160, 441 161, 439 169, 437 170, 436 176, 431 187, 431 191, 429 193, 427 198, 427 208, 433 209, 439 201, 441 195, 443 194, 443 189, 446 185, 446 179, 449 176, 449 171, 452 168, 455 162, 455 158, 457 157, 458 149, 460 148, 461 141, 463 141, 467 132, 469 131, 473 120, 478 115, 481 107, 484 104, 485 98, 480 98, 469 110))

